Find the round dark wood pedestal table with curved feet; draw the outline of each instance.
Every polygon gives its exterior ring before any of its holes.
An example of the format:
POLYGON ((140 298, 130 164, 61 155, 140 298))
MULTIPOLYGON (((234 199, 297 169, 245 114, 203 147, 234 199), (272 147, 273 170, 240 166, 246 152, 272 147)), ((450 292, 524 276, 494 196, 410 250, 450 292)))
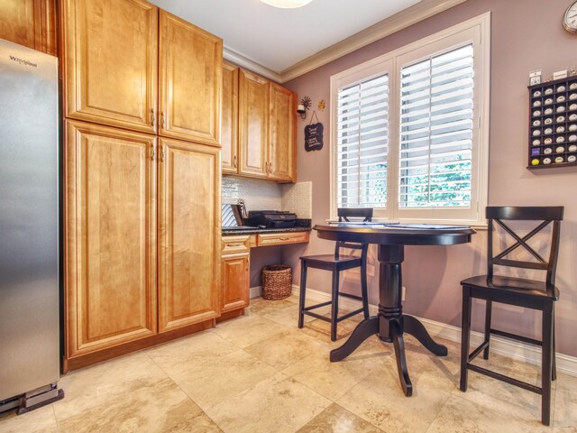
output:
POLYGON ((318 237, 331 241, 377 244, 379 247, 379 314, 363 320, 349 339, 331 351, 331 362, 342 361, 369 336, 392 343, 397 358, 398 379, 410 397, 413 385, 408 376, 403 334, 415 336, 430 352, 446 356, 447 348, 435 343, 415 317, 403 314, 401 305, 402 272, 405 245, 454 245, 471 242, 476 232, 470 227, 427 225, 351 225, 346 223, 315 226, 318 237))

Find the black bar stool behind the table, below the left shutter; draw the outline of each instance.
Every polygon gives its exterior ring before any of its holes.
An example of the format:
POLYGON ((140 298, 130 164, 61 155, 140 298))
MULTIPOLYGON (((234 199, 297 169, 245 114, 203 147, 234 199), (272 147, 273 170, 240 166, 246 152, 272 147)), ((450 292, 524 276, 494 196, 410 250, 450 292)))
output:
MULTIPOLYGON (((349 218, 363 218, 362 221, 371 221, 371 208, 339 208, 339 221, 349 221, 349 218)), ((307 255, 300 258, 300 298, 298 299, 298 327, 304 325, 304 315, 319 318, 331 323, 331 340, 336 340, 336 326, 338 322, 346 318, 351 318, 359 313, 364 314, 364 318, 369 318, 369 301, 367 300, 367 249, 369 244, 355 244, 350 242, 337 242, 334 245, 334 254, 307 255), (341 248, 361 250, 361 256, 341 253, 341 248), (361 296, 343 293, 339 291, 339 278, 341 271, 361 267, 361 296), (331 290, 331 300, 320 304, 305 307, 305 296, 307 293, 307 269, 323 269, 333 272, 333 283, 331 290), (362 301, 362 308, 355 309, 341 317, 338 317, 339 295, 362 301), (331 317, 326 318, 311 311, 331 305, 331 317)))

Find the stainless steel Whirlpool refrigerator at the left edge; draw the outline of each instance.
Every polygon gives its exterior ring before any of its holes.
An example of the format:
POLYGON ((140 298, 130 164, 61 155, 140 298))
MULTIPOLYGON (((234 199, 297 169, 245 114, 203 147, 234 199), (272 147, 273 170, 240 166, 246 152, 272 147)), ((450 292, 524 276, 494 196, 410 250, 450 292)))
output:
POLYGON ((57 69, 0 40, 0 411, 62 395, 57 69))

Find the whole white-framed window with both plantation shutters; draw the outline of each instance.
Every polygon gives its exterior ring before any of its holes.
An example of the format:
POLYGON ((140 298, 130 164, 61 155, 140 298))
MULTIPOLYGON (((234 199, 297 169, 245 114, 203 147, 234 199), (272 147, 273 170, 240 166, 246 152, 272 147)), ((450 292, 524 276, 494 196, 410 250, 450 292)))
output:
POLYGON ((485 224, 489 37, 484 14, 331 77, 331 217, 485 224))

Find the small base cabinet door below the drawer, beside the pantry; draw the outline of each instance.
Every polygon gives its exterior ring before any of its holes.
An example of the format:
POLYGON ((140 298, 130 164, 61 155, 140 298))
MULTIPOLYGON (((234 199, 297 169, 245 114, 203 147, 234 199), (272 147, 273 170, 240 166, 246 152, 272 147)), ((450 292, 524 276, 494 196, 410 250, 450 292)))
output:
POLYGON ((249 255, 243 253, 223 257, 223 313, 249 305, 249 255))

